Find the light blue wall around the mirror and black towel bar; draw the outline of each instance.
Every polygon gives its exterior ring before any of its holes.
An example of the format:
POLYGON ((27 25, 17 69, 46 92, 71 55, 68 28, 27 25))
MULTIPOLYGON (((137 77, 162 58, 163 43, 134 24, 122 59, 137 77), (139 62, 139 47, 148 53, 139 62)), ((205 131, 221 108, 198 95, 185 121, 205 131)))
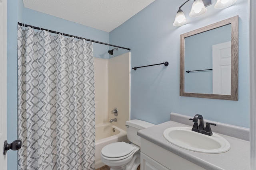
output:
MULTIPOLYGON (((215 4, 216 0, 212 0, 215 4)), ((131 119, 151 123, 168 121, 170 112, 249 127, 249 49, 248 0, 229 8, 214 5, 198 18, 190 18, 193 1, 182 7, 188 20, 182 27, 172 25, 180 0, 156 0, 118 28, 110 32, 110 43, 131 48, 131 66, 169 62, 131 71, 131 119), (239 15, 239 96, 238 101, 179 96, 180 34, 239 15)), ((115 53, 119 55, 121 51, 115 53)))

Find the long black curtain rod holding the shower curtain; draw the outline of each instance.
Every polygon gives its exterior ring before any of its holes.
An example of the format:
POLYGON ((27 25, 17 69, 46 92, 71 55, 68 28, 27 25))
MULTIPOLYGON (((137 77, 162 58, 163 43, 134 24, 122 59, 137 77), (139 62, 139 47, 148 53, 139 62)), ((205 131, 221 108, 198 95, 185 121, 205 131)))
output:
POLYGON ((91 41, 91 42, 99 43, 99 44, 103 44, 103 45, 109 45, 109 46, 112 46, 112 47, 118 47, 118 48, 120 48, 120 49, 131 50, 131 49, 129 49, 129 48, 120 47, 120 46, 112 45, 112 44, 107 44, 107 43, 103 43, 103 42, 100 42, 100 41, 95 41, 95 40, 92 40, 92 39, 82 38, 82 37, 78 37, 78 36, 75 36, 75 35, 70 35, 70 34, 61 33, 61 32, 57 32, 57 31, 52 31, 52 30, 50 30, 50 29, 44 29, 44 28, 40 28, 40 27, 35 27, 35 26, 32 26, 32 25, 27 25, 27 24, 20 23, 20 22, 18 22, 18 25, 24 26, 24 27, 31 27, 31 28, 33 28, 33 29, 38 29, 38 30, 45 30, 45 31, 49 31, 50 33, 56 33, 56 34, 59 34, 59 33, 60 33, 60 34, 62 34, 62 35, 68 36, 68 37, 75 37, 75 38, 78 38, 78 39, 85 39, 86 41, 91 41))

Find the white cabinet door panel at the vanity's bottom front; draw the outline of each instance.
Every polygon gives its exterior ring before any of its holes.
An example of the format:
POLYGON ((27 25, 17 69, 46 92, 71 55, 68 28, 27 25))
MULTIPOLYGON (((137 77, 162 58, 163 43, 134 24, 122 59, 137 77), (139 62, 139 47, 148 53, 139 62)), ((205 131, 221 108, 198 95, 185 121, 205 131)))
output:
POLYGON ((141 170, 169 170, 142 152, 140 152, 140 168, 141 170))

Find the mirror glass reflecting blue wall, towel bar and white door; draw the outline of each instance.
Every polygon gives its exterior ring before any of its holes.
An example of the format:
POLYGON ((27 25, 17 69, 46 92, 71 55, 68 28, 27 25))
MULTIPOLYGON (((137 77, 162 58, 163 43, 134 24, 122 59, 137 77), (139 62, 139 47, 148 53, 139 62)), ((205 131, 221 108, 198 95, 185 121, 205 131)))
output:
POLYGON ((230 42, 231 24, 185 38, 185 92, 230 95, 230 42), (226 47, 225 43, 229 46, 226 47), (213 53, 215 56, 212 55, 213 53), (217 56, 218 54, 225 56, 217 56), (219 61, 219 57, 223 60, 219 61), (219 68, 213 68, 213 64, 218 65, 219 68), (223 70, 223 74, 217 73, 219 70, 223 70), (219 78, 215 76, 213 80, 214 74, 218 74, 219 78), (223 76, 225 77, 222 79, 223 76), (218 85, 222 83, 221 80, 225 80, 223 86, 218 85), (220 89, 218 90, 216 86, 220 89))

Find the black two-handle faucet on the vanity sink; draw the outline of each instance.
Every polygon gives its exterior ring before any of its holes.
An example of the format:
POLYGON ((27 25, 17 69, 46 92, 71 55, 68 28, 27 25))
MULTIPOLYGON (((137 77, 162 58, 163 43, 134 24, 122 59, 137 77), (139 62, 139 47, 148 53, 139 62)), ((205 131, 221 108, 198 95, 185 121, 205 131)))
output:
POLYGON ((194 116, 194 119, 190 119, 190 120, 192 120, 194 122, 192 131, 202 133, 204 135, 212 136, 212 129, 211 129, 210 125, 216 126, 215 123, 206 122, 206 127, 204 128, 204 118, 202 115, 199 115, 199 114, 196 114, 194 116), (199 126, 198 126, 198 119, 199 119, 199 126))

